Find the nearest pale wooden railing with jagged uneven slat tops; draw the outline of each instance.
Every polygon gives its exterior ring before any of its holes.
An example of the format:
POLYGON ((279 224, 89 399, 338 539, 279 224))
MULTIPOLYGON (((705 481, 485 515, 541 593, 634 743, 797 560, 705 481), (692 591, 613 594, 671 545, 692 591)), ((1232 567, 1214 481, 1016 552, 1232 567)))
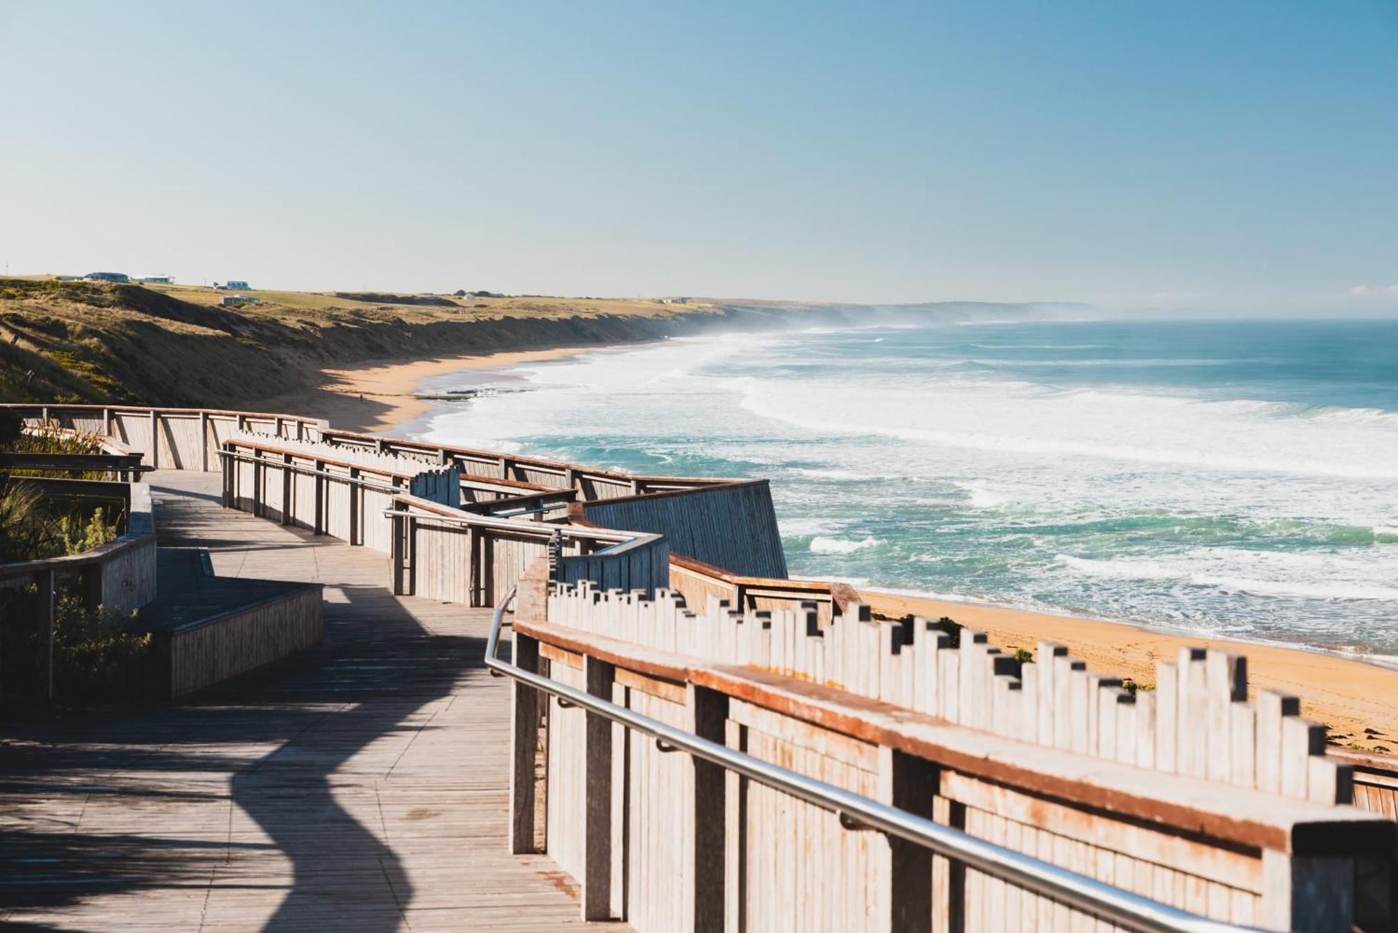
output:
MULTIPOLYGON (((1162 665, 1176 690, 1146 714, 1051 644, 1015 675, 970 630, 952 647, 858 606, 825 627, 801 612, 691 613, 664 594, 549 592, 537 570, 514 636, 528 670, 1188 913, 1272 930, 1398 920, 1398 827, 1336 805, 1349 770, 1288 698, 1244 701, 1233 655, 1162 665)), ((542 835, 589 919, 643 933, 1096 929, 1033 887, 526 693, 513 844, 542 835)))

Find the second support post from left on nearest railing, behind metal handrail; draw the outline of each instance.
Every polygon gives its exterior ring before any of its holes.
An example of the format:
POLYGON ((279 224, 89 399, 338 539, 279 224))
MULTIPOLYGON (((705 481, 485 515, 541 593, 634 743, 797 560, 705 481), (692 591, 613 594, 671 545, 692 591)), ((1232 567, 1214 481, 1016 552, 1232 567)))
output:
MULTIPOLYGON (((608 703, 612 698, 615 669, 593 656, 583 659, 587 693, 608 703)), ((607 717, 587 712, 584 764, 583 828, 583 919, 611 920, 612 872, 612 723, 607 717)))

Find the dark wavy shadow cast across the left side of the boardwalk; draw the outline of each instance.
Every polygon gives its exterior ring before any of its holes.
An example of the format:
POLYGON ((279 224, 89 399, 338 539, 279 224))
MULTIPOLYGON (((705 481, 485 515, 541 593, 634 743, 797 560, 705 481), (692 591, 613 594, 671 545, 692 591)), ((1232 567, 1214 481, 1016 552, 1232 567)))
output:
POLYGON ((414 888, 379 782, 484 641, 429 634, 382 587, 340 592, 319 647, 179 705, 6 729, 0 918, 129 892, 148 908, 91 926, 197 927, 217 887, 267 930, 397 929, 414 888))

